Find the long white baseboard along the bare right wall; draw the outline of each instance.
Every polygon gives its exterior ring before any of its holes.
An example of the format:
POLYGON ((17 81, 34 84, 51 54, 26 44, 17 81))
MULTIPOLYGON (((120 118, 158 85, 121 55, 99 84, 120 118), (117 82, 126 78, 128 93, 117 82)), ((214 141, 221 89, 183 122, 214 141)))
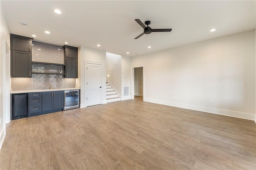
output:
POLYGON ((184 109, 203 111, 203 112, 207 112, 207 113, 214 113, 214 114, 218 114, 218 115, 238 117, 238 118, 242 118, 242 119, 249 119, 249 120, 255 121, 255 115, 250 114, 250 113, 243 113, 243 112, 224 110, 224 109, 216 109, 216 108, 211 108, 211 107, 195 106, 195 105, 182 104, 182 103, 176 103, 176 102, 168 102, 168 101, 155 100, 155 99, 149 99, 149 98, 145 98, 144 101, 156 103, 156 104, 163 104, 163 105, 167 105, 167 106, 180 107, 180 108, 184 108, 184 109))

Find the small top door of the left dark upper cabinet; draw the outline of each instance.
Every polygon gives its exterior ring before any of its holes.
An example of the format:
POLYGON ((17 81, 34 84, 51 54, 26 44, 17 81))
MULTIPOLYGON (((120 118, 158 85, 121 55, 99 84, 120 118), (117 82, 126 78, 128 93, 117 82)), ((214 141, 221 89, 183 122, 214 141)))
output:
POLYGON ((32 48, 32 41, 12 37, 12 50, 30 52, 31 48, 32 48))

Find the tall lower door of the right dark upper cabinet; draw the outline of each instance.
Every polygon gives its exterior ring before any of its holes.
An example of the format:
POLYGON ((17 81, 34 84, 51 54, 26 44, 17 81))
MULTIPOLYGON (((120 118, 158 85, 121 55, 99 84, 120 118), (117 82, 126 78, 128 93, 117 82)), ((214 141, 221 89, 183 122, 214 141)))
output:
POLYGON ((66 58, 66 78, 77 78, 77 59, 66 58))

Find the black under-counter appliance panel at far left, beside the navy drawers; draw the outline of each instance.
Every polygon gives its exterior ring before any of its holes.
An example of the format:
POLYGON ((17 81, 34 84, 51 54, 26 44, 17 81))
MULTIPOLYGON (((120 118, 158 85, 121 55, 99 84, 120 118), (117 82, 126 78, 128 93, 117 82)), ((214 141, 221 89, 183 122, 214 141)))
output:
POLYGON ((12 119, 28 116, 28 94, 12 94, 12 119))

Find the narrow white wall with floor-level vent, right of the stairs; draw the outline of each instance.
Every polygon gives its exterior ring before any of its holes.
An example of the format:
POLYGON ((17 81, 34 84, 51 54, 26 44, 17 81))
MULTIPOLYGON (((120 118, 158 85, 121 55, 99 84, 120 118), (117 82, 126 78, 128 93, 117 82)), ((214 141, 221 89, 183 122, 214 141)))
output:
POLYGON ((122 56, 122 98, 121 100, 128 100, 131 98, 131 57, 122 56), (124 96, 124 87, 129 86, 129 95, 124 96))

